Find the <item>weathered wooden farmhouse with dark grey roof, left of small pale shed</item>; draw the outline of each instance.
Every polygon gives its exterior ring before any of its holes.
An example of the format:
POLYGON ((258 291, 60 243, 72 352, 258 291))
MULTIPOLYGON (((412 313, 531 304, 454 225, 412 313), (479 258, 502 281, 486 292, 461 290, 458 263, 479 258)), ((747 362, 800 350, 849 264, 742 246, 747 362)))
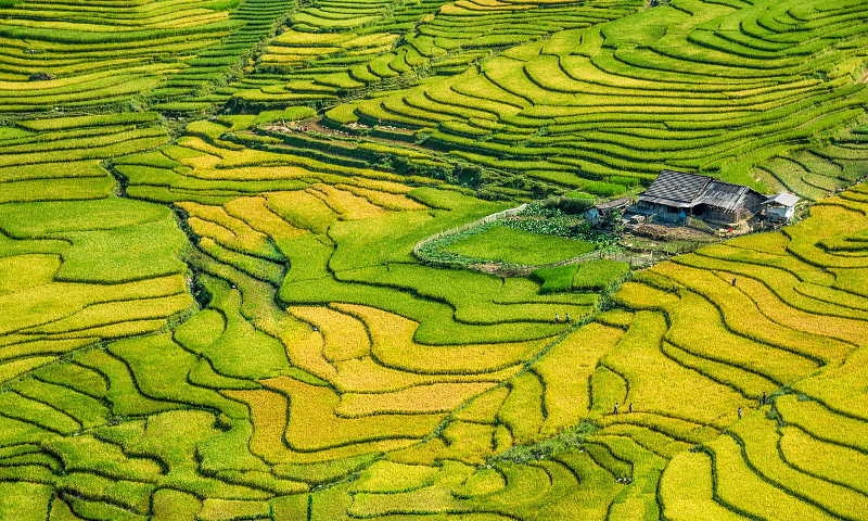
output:
POLYGON ((712 223, 731 224, 751 218, 766 196, 741 185, 711 177, 663 170, 639 195, 631 209, 664 223, 684 223, 698 217, 712 223))

